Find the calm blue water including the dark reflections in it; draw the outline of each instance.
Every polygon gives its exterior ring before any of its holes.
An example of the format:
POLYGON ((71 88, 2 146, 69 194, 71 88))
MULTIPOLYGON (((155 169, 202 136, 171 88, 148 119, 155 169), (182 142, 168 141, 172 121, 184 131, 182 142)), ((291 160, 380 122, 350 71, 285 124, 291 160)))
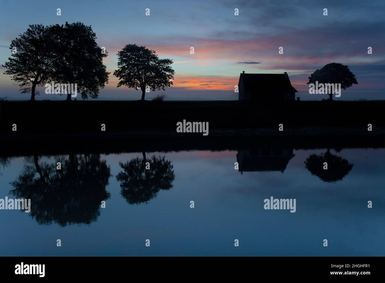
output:
POLYGON ((385 256, 384 157, 254 147, 2 158, 0 198, 32 208, 0 210, 0 255, 385 256), (296 212, 265 210, 270 196, 296 199, 296 212))

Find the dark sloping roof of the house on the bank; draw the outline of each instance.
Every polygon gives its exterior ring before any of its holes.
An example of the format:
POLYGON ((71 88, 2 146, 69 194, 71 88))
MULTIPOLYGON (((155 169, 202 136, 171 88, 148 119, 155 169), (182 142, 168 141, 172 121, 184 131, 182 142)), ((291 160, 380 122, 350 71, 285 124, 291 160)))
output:
POLYGON ((294 91, 287 74, 241 74, 239 83, 243 82, 246 91, 294 91))

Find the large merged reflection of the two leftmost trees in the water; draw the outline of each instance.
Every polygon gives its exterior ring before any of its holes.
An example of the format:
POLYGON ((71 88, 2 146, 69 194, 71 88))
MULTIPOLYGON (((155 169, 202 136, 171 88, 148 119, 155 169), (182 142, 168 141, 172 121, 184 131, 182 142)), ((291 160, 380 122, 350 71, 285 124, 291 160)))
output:
POLYGON ((61 156, 62 169, 53 164, 39 163, 39 157, 26 159, 22 174, 11 182, 17 198, 31 199, 30 215, 39 224, 60 226, 96 221, 103 200, 110 197, 110 167, 100 161, 100 154, 61 156))

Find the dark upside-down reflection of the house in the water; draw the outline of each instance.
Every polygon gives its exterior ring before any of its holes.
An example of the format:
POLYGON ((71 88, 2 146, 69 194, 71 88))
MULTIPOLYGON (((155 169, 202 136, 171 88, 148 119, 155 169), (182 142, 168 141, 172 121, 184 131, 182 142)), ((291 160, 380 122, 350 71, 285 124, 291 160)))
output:
POLYGON ((255 147, 238 150, 238 171, 269 172, 285 171, 291 158, 294 157, 292 148, 284 147, 255 147))

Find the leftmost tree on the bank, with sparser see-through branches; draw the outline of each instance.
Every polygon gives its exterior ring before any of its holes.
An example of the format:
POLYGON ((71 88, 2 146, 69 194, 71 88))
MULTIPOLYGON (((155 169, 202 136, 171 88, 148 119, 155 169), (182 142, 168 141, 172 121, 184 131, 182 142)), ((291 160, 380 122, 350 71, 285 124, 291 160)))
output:
POLYGON ((4 74, 20 83, 22 93, 31 93, 32 101, 39 94, 36 87, 45 85, 52 74, 51 44, 49 28, 44 25, 30 25, 10 44, 12 58, 3 65, 4 74))

